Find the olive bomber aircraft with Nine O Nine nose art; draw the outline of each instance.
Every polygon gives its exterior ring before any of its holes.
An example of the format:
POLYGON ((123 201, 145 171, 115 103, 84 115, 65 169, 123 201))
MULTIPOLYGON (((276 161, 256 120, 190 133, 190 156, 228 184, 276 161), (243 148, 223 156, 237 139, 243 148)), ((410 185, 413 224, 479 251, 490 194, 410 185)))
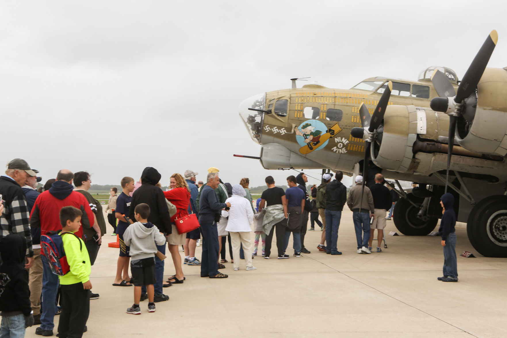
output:
POLYGON ((496 42, 493 30, 461 81, 432 66, 418 81, 373 77, 342 90, 296 88, 292 79, 291 89, 247 98, 239 114, 261 154, 245 157, 270 170, 366 176, 370 167, 386 179, 415 182, 410 193, 398 185, 393 212, 406 235, 435 228, 448 191, 474 248, 507 257, 507 67, 486 68, 496 42))

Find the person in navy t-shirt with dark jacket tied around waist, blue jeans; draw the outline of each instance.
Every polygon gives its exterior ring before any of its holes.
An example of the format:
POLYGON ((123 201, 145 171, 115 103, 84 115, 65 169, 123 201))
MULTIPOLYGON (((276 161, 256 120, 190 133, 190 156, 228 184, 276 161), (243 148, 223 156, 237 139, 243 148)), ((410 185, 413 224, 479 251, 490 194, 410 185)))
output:
POLYGON ((301 257, 301 227, 303 225, 303 210, 305 207, 306 195, 304 191, 298 188, 296 177, 291 175, 287 177, 287 184, 290 188, 285 190, 287 198, 287 228, 285 229, 285 250, 287 250, 288 240, 293 233, 294 257, 301 257))

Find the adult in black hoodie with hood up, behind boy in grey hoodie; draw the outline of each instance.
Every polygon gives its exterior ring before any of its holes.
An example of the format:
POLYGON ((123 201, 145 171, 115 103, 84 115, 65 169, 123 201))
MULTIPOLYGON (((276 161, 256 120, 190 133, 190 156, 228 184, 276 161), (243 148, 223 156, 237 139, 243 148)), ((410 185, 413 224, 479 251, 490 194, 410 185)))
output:
MULTIPOLYGON (((142 171, 141 175, 141 186, 137 188, 132 194, 130 201, 129 218, 134 220, 135 206, 141 203, 146 203, 150 206, 150 216, 148 222, 154 224, 160 232, 168 236, 172 232, 171 228, 171 216, 169 215, 169 208, 164 197, 164 192, 155 184, 160 182, 161 175, 159 172, 151 167, 147 166, 142 171)), ((165 254, 165 244, 157 245, 158 251, 165 254)), ((155 271, 156 271, 156 283, 155 283, 155 302, 169 300, 169 296, 163 294, 162 284, 164 280, 164 262, 158 257, 155 258, 155 271)), ((146 287, 142 287, 141 300, 148 297, 146 287)))

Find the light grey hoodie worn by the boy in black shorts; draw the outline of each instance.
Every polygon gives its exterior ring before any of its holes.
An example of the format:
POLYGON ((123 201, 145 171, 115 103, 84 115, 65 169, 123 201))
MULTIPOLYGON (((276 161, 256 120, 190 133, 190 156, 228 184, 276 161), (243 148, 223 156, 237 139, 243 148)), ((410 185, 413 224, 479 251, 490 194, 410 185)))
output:
POLYGON ((151 228, 147 228, 141 222, 130 224, 123 234, 123 240, 126 245, 130 246, 131 260, 155 257, 157 253, 157 245, 165 244, 165 236, 160 233, 159 229, 151 224, 151 228))

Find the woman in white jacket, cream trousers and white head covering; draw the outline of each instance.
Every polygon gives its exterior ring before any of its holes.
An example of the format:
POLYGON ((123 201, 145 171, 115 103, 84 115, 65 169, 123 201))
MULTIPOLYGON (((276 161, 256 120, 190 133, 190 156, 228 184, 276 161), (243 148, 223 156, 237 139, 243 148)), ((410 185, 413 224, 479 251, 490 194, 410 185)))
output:
MULTIPOLYGON (((226 230, 231 234, 232 255, 234 259, 234 270, 239 270, 239 247, 242 244, 245 252, 246 270, 255 270, 252 266, 252 242, 251 242, 251 224, 253 222, 253 210, 251 203, 245 198, 245 189, 235 184, 232 187, 232 196, 227 198, 230 202, 229 219, 226 230)), ((222 214, 224 216, 224 213, 222 214)))

